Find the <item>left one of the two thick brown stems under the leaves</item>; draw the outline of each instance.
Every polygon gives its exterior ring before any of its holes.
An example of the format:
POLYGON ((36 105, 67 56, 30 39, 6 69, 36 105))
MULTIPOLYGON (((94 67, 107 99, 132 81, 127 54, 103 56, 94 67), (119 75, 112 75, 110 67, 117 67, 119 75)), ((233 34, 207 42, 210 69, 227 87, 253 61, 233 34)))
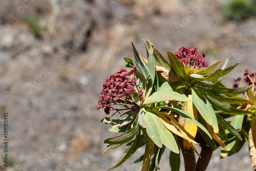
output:
POLYGON ((185 149, 183 146, 183 138, 177 136, 180 149, 184 159, 185 171, 196 170, 196 157, 193 148, 185 149))

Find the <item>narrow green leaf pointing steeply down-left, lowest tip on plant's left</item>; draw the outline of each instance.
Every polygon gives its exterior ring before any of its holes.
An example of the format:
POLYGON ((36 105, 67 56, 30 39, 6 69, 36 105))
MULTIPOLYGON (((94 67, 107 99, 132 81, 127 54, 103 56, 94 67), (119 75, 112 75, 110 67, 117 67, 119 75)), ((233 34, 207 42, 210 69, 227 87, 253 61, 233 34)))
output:
MULTIPOLYGON (((138 124, 137 124, 137 125, 138 125, 138 124)), ((140 143, 140 131, 138 131, 134 142, 133 142, 132 145, 129 147, 128 151, 126 152, 126 154, 124 155, 124 157, 122 158, 122 160, 121 160, 117 165, 115 165, 114 167, 110 168, 110 170, 119 167, 119 166, 122 165, 129 157, 131 157, 131 156, 136 152, 136 150, 137 150, 137 148, 138 148, 138 146, 139 146, 139 143, 140 143)))

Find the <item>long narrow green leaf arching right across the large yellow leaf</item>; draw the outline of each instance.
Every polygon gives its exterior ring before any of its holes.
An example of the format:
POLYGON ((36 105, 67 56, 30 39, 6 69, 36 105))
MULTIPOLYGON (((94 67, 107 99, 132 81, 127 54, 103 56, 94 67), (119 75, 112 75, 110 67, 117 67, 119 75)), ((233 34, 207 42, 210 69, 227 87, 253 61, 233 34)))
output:
MULTIPOLYGON (((198 127, 200 127, 201 130, 203 130, 211 139, 211 135, 210 133, 207 131, 207 129, 201 124, 199 123, 196 119, 194 119, 193 117, 191 117, 188 113, 180 110, 180 109, 177 109, 177 108, 173 108, 173 107, 170 107, 170 106, 159 106, 156 110, 159 110, 159 109, 166 109, 166 110, 169 110, 169 111, 173 111, 173 112, 176 112, 177 114, 179 114, 180 116, 182 116, 183 118, 185 118, 186 120, 188 120, 189 122, 192 122, 192 123, 195 123, 198 127)), ((153 109, 154 110, 154 109, 153 109)))

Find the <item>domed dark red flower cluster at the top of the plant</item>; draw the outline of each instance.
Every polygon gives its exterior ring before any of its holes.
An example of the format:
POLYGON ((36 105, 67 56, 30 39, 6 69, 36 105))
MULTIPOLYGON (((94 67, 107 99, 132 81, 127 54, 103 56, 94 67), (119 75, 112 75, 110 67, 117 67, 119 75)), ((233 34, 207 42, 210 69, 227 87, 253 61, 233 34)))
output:
POLYGON ((208 63, 204 60, 205 54, 199 53, 197 48, 194 47, 181 47, 175 55, 179 58, 183 67, 189 66, 189 68, 208 67, 208 63))

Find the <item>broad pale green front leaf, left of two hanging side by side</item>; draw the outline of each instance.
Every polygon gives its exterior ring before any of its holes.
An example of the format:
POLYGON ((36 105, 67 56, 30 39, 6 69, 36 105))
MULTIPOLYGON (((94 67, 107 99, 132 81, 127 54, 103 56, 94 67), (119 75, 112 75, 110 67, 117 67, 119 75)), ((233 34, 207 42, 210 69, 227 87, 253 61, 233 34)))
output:
POLYGON ((158 117, 151 113, 146 112, 145 113, 145 123, 146 123, 146 133, 148 137, 152 139, 152 141, 158 146, 162 147, 162 141, 160 136, 160 126, 158 122, 158 117))

